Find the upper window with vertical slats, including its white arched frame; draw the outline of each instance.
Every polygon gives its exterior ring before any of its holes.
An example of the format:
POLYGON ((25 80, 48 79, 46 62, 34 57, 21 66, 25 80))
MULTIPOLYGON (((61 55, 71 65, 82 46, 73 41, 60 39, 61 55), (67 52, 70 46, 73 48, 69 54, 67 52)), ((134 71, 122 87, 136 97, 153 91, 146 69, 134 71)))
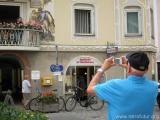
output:
POLYGON ((74 5, 75 35, 95 35, 94 7, 88 4, 74 5))

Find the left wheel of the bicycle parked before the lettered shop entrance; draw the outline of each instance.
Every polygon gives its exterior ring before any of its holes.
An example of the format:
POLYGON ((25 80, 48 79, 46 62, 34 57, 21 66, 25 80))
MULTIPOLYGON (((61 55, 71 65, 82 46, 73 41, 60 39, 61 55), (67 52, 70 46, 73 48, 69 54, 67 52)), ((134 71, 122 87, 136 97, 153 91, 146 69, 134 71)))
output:
POLYGON ((66 111, 72 111, 76 107, 77 101, 74 96, 70 96, 66 101, 66 111))

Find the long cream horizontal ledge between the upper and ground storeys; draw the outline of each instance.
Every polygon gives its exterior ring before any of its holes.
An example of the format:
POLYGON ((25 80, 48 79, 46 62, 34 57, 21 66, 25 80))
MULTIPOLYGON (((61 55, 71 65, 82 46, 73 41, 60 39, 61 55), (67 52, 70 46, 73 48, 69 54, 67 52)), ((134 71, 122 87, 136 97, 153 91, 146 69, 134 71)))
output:
MULTIPOLYGON (((106 52, 107 46, 105 45, 57 45, 58 51, 62 52, 106 52)), ((111 47, 111 46, 110 46, 111 47)), ((56 45, 40 45, 41 51, 56 51, 56 45)), ((118 46, 118 52, 128 51, 152 51, 156 52, 156 47, 152 45, 139 45, 139 46, 118 46)))

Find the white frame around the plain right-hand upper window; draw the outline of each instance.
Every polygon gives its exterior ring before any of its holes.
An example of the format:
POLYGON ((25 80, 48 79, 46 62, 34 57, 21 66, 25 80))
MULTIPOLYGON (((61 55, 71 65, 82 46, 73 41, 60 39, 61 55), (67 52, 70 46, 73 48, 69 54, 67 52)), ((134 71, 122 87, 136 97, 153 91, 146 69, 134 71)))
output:
POLYGON ((126 37, 134 37, 134 36, 142 36, 142 11, 140 8, 132 8, 132 9, 125 9, 125 36, 126 37), (137 12, 138 13, 138 33, 128 33, 127 31, 127 13, 129 12, 137 12))

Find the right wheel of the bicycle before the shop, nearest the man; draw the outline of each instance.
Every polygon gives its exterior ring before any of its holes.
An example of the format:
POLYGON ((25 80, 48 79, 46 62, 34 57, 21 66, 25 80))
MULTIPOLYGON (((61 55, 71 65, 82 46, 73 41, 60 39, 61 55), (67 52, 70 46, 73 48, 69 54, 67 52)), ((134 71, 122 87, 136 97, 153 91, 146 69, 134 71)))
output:
POLYGON ((94 96, 89 99, 89 106, 92 110, 100 110, 104 106, 104 101, 101 101, 96 96, 94 96))

